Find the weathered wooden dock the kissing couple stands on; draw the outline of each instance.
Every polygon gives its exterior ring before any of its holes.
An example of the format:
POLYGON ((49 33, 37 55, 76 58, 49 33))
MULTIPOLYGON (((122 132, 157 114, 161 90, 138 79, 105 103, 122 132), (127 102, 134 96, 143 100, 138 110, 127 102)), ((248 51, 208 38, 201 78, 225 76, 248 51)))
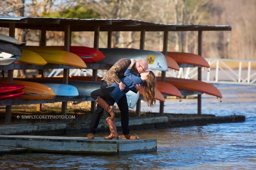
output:
POLYGON ((104 140, 66 136, 0 135, 4 146, 28 148, 37 152, 118 155, 156 152, 156 139, 104 140))

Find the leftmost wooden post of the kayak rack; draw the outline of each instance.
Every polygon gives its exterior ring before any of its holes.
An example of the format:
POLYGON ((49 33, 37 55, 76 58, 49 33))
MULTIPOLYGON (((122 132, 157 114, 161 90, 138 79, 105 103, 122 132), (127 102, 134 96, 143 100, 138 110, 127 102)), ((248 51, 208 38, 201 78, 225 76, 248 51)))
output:
MULTIPOLYGON (((15 23, 9 24, 9 36, 15 38, 15 23)), ((7 83, 13 83, 13 70, 8 70, 7 83)), ((11 122, 12 106, 5 107, 5 122, 11 122)))

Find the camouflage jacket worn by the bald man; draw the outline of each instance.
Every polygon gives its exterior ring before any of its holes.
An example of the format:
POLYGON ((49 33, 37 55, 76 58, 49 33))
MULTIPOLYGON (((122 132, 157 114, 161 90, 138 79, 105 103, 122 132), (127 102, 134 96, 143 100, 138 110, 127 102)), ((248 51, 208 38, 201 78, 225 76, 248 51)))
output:
MULTIPOLYGON (((128 66, 131 64, 131 60, 128 58, 121 58, 118 60, 102 77, 101 80, 105 80, 108 84, 108 86, 115 83, 120 83, 121 78, 124 77, 124 72, 128 68, 128 66)), ((132 67, 131 73, 138 76, 138 71, 135 67, 135 64, 132 67)))

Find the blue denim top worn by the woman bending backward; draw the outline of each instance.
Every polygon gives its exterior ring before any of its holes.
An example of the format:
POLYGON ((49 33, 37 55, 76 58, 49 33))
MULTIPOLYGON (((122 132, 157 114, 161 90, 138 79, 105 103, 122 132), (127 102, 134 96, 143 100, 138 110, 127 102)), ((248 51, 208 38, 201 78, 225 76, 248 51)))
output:
POLYGON ((125 89, 123 91, 120 90, 119 84, 113 83, 111 86, 108 86, 115 87, 115 89, 110 93, 110 95, 116 103, 118 103, 119 99, 128 91, 135 90, 136 84, 140 84, 141 86, 143 85, 143 81, 141 80, 141 78, 132 74, 131 69, 129 68, 126 69, 124 76, 125 77, 120 79, 125 84, 125 89))

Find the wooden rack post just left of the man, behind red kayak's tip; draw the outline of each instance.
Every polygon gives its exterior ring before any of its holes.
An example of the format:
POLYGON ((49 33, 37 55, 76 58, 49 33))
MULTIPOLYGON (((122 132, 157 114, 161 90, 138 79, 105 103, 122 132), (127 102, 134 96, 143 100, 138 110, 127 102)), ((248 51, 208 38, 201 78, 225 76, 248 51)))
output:
MULTIPOLYGON (((100 26, 95 26, 94 28, 94 43, 93 48, 99 49, 99 38, 100 38, 100 26)), ((97 81, 98 70, 92 70, 92 81, 97 81)), ((91 102, 91 113, 96 110, 96 102, 91 102)))

